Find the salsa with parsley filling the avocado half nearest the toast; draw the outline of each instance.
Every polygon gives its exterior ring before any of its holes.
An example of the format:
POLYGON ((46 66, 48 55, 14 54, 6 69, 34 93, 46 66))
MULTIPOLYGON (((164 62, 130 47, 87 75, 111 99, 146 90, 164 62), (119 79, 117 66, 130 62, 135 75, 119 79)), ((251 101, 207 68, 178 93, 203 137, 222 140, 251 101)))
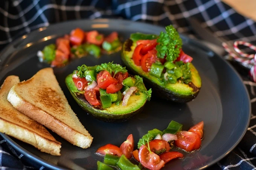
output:
POLYGON ((151 89, 146 90, 139 76, 129 77, 125 67, 113 62, 97 66, 78 66, 73 73, 75 86, 83 93, 85 99, 99 108, 111 107, 113 103, 126 106, 132 95, 145 93, 151 98, 151 89))

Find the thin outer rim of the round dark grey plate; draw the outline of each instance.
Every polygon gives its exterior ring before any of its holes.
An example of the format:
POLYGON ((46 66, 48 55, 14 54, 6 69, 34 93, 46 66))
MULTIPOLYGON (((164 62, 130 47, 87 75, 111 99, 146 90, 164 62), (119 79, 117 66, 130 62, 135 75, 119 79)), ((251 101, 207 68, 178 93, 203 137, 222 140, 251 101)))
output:
MULTIPOLYGON (((73 23, 73 22, 79 22, 79 21, 89 21, 89 22, 94 22, 95 23, 111 23, 111 22, 114 22, 114 21, 122 21, 122 22, 127 22, 127 23, 138 23, 138 24, 145 24, 147 26, 153 26, 153 27, 158 27, 159 29, 164 29, 164 26, 161 26, 161 25, 154 25, 152 23, 143 23, 143 22, 140 22, 140 21, 131 21, 131 20, 125 20, 125 19, 111 19, 111 18, 97 18, 97 19, 94 19, 94 20, 89 20, 89 19, 79 19, 79 20, 69 20, 69 21, 64 21, 64 22, 60 22, 60 23, 53 23, 53 24, 49 24, 49 26, 44 26, 44 27, 40 27, 38 29, 34 29, 32 30, 30 33, 24 33, 24 34, 17 34, 17 37, 14 38, 14 40, 12 42, 9 42, 8 45, 6 45, 1 51, 0 51, 0 57, 2 56, 2 54, 5 53, 6 50, 8 50, 8 48, 10 48, 12 45, 15 45, 17 44, 17 42, 21 41, 21 38, 23 36, 26 36, 26 38, 32 34, 32 33, 36 33, 36 32, 41 32, 43 28, 43 30, 46 30, 46 29, 49 29, 50 27, 55 27, 55 26, 58 26, 58 25, 61 25, 61 24, 67 24, 67 23, 73 23), (103 21, 103 22, 101 22, 103 21), (107 22, 106 22, 107 21, 107 22)), ((211 161, 210 163, 208 163, 207 165, 205 165, 204 167, 201 167, 200 169, 204 169, 204 168, 207 168, 207 167, 210 167, 211 165, 215 164, 216 162, 218 162, 219 160, 223 159, 224 157, 226 157, 230 152, 232 152, 233 149, 235 149, 235 147, 240 143, 240 141, 242 140, 242 138, 244 137, 245 133, 247 132, 247 128, 249 126, 249 123, 250 123, 250 117, 251 117, 251 102, 250 102, 250 95, 248 93, 248 90, 247 90, 247 87, 245 86, 245 84, 243 83, 243 80, 242 80, 242 77, 241 75, 239 75, 239 73, 236 71, 235 68, 233 68, 233 66, 227 62, 226 60, 224 60, 221 56, 219 56, 218 54, 216 54, 213 50, 211 50, 210 48, 206 47, 206 45, 204 44, 201 44, 200 41, 198 39, 192 39, 192 38, 189 38, 187 35, 184 35, 182 33, 179 33, 180 36, 182 36, 183 38, 186 38, 188 39, 190 42, 194 43, 194 44, 197 44, 197 45, 200 45, 200 47, 203 47, 204 49, 206 49, 207 51, 209 52, 212 52, 216 57, 218 57, 219 59, 222 60, 222 62, 225 62, 228 66, 229 66, 229 69, 231 69, 235 75, 239 78, 239 80, 241 81, 242 83, 242 86, 243 88, 245 89, 245 93, 246 93, 246 96, 247 96, 247 100, 248 100, 248 105, 249 105, 249 114, 248 114, 248 120, 246 122, 246 128, 244 129, 244 131, 242 132, 242 135, 239 137, 239 139, 236 141, 236 143, 225 153, 223 154, 222 156, 219 156, 217 159, 215 159, 214 161, 211 161)), ((0 64, 0 72, 2 71, 2 64, 0 64)), ((66 169, 66 168, 63 168, 63 167, 60 167, 58 165, 55 165, 51 162, 48 162, 46 160, 44 160, 43 158, 40 158, 38 157, 37 155, 34 155, 33 153, 29 152, 28 150, 24 149, 23 147, 21 147, 19 144, 17 144, 14 140, 12 140, 8 135, 4 134, 4 133, 1 133, 0 132, 0 135, 12 146, 14 147, 16 150, 18 150, 19 152, 23 153, 24 156, 27 156, 29 157, 30 159, 33 159, 35 162, 37 163, 40 163, 40 164, 43 164, 44 167, 47 167, 47 168, 52 168, 52 169, 66 169)))

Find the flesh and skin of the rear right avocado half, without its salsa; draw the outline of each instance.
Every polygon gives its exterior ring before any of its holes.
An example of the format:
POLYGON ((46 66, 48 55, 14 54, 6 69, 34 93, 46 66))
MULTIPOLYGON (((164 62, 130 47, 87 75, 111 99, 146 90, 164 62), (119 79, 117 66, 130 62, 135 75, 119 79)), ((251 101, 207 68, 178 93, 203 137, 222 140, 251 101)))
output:
POLYGON ((201 77, 192 63, 189 65, 192 75, 192 81, 189 84, 178 82, 175 84, 163 83, 157 77, 150 75, 149 72, 144 72, 140 66, 135 65, 132 59, 135 47, 136 42, 131 39, 127 39, 123 43, 122 62, 130 73, 142 77, 146 86, 152 88, 154 94, 166 100, 180 103, 189 102, 198 95, 201 88, 201 77))

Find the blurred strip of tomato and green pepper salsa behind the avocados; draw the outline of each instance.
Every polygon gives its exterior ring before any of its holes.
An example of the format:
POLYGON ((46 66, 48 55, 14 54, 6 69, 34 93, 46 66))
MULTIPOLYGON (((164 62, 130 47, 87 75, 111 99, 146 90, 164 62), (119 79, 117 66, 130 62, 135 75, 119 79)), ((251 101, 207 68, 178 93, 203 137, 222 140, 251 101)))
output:
POLYGON ((38 51, 37 56, 40 62, 51 64, 52 67, 66 65, 70 59, 81 58, 91 54, 100 57, 101 54, 111 54, 121 49, 121 42, 117 32, 105 36, 96 30, 84 32, 76 28, 56 39, 55 44, 49 44, 43 51, 38 51))

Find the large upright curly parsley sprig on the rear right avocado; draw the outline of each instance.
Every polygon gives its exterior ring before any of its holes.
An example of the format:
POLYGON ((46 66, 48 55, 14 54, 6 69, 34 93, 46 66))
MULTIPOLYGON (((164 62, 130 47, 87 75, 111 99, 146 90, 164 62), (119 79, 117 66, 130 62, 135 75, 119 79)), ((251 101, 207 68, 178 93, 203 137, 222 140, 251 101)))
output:
POLYGON ((157 57, 163 59, 166 56, 166 60, 173 62, 180 54, 182 40, 172 25, 166 26, 165 31, 166 33, 161 32, 157 39, 157 57))

